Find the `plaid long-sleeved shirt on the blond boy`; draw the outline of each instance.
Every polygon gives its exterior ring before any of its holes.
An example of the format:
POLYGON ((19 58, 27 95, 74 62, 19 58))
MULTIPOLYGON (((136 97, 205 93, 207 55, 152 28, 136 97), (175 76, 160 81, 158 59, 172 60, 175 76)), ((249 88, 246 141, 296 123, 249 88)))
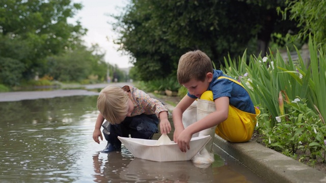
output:
POLYGON ((168 108, 156 99, 151 98, 144 91, 129 85, 121 87, 126 92, 130 91, 130 99, 133 103, 134 109, 131 116, 137 116, 140 114, 156 114, 159 117, 159 113, 167 111, 168 108))

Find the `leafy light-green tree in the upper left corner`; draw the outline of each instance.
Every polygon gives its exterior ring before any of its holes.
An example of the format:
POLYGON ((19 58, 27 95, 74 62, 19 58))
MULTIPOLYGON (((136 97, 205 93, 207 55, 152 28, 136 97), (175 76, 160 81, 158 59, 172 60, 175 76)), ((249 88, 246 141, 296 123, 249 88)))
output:
POLYGON ((0 45, 5 45, 0 46, 0 56, 18 60, 25 68, 23 78, 33 78, 46 66, 47 56, 80 43, 87 30, 79 22, 69 24, 67 18, 81 8, 70 0, 0 1, 0 45), (17 47, 23 50, 19 58, 13 51, 17 47))

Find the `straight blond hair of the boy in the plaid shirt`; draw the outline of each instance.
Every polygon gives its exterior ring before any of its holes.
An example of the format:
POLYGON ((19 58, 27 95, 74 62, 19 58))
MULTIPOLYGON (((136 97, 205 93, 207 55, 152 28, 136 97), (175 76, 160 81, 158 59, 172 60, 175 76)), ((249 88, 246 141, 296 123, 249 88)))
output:
POLYGON ((119 86, 106 86, 97 98, 97 109, 112 125, 120 124, 128 112, 128 94, 119 86))

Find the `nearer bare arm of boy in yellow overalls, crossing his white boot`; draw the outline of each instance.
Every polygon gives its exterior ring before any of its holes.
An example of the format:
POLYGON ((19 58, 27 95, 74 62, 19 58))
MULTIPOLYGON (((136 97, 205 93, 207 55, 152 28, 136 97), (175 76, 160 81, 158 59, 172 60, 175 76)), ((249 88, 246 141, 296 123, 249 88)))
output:
POLYGON ((190 148, 189 142, 194 133, 200 132, 207 128, 219 125, 228 118, 229 115, 229 97, 221 97, 215 101, 216 111, 189 125, 186 129, 179 133, 176 139, 179 148, 182 152, 186 152, 190 148))

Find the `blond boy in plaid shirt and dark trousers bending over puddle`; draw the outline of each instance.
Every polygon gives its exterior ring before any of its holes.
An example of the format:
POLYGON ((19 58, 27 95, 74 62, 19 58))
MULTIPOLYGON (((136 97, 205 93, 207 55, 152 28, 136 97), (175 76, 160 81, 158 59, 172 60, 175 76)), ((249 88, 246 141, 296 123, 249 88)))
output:
POLYGON ((171 131, 167 107, 136 87, 106 86, 98 96, 97 108, 100 113, 93 139, 97 143, 100 143, 99 137, 103 140, 102 126, 107 140, 102 153, 121 148, 118 136, 129 137, 130 134, 131 138, 151 139, 154 133, 158 133, 158 124, 162 134, 171 131))

